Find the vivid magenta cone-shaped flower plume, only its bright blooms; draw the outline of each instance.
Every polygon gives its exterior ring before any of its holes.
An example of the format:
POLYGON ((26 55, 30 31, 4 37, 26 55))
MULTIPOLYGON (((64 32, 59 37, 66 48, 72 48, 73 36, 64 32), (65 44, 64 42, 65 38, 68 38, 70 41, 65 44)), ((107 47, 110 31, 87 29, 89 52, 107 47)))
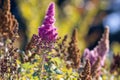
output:
POLYGON ((54 3, 51 3, 48 7, 43 24, 39 27, 38 30, 40 38, 45 42, 54 42, 57 39, 58 33, 56 32, 56 28, 54 27, 54 15, 54 3))

